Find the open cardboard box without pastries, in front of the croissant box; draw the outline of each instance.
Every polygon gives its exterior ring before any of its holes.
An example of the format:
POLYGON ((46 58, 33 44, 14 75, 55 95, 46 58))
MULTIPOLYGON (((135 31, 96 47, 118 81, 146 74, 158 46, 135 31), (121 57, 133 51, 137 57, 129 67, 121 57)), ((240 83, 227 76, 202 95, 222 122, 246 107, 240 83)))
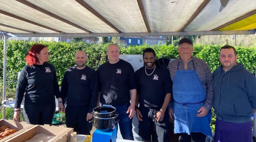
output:
POLYGON ((44 133, 46 135, 56 136, 52 141, 53 142, 67 142, 70 138, 70 133, 73 132, 73 128, 65 128, 65 127, 54 127, 49 125, 35 125, 15 135, 14 137, 8 139, 6 142, 24 142, 33 138, 36 134, 44 133))

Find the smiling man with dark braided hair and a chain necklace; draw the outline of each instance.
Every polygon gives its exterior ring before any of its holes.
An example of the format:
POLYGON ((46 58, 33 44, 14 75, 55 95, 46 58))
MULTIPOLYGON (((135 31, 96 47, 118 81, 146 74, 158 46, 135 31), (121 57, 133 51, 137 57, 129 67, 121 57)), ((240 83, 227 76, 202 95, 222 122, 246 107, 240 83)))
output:
POLYGON ((166 108, 172 93, 170 73, 157 63, 152 48, 144 50, 143 61, 145 66, 135 72, 136 116, 140 136, 143 141, 169 142, 169 115, 166 108))

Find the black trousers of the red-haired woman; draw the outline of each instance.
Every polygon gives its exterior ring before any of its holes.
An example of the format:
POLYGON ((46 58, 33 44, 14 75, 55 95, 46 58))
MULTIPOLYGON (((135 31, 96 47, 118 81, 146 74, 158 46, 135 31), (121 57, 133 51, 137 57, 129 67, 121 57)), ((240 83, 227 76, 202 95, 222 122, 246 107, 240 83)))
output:
POLYGON ((47 105, 38 105, 24 101, 24 109, 28 115, 30 124, 33 125, 52 125, 55 108, 55 102, 47 105))

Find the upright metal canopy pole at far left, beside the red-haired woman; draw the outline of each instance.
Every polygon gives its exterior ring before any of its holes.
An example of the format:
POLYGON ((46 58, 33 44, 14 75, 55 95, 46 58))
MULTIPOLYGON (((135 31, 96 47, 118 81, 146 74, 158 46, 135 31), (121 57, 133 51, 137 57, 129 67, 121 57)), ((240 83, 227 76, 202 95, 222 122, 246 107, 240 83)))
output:
MULTIPOLYGON (((3 101, 6 100, 6 53, 7 53, 7 35, 4 34, 4 74, 3 74, 3 101)), ((5 106, 3 105, 3 119, 5 119, 5 106)))

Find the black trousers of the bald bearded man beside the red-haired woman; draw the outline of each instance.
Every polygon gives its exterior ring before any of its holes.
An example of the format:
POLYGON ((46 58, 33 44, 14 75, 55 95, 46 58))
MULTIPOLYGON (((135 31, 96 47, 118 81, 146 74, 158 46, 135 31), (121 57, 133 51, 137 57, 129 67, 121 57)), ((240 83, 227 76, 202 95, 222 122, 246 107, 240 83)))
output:
POLYGON ((77 134, 90 135, 92 122, 86 121, 89 106, 66 107, 66 125, 68 128, 74 128, 77 134))

